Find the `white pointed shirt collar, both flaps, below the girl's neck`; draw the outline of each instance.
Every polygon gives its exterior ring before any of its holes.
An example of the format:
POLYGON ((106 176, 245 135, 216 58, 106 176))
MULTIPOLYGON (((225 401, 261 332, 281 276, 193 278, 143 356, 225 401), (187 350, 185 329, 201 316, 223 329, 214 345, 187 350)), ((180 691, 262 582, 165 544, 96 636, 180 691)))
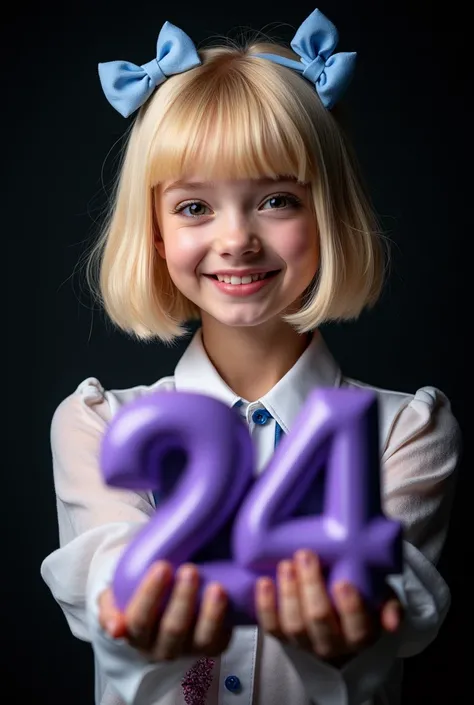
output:
MULTIPOLYGON (((175 370, 177 391, 207 394, 227 406, 241 400, 209 360, 201 329, 194 334, 175 370)), ((315 334, 304 353, 277 384, 259 399, 287 433, 309 394, 316 388, 341 383, 341 371, 322 336, 315 334)))

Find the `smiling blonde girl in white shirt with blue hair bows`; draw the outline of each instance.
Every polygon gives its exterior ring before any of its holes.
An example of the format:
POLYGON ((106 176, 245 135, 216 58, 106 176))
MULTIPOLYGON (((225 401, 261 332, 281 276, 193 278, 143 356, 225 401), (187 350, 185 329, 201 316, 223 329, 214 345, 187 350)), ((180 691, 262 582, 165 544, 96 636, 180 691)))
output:
POLYGON ((260 472, 313 389, 365 386, 342 376, 319 332, 376 301, 384 266, 331 110, 355 58, 336 43, 318 10, 292 50, 254 41, 198 52, 165 23, 156 59, 99 67, 110 103, 124 116, 139 110, 91 260, 101 300, 142 340, 201 326, 172 377, 125 390, 91 377, 54 414, 61 545, 42 575, 72 632, 93 645, 97 705, 393 705, 401 659, 435 638, 448 610, 435 564, 459 434, 433 387, 374 390, 384 508, 405 529, 404 572, 377 618, 349 584, 332 602, 305 550, 279 564, 275 582, 258 581, 258 628, 232 634, 223 586, 209 585, 195 609, 196 565, 174 575, 157 562, 124 614, 109 587, 155 509, 152 493, 103 482, 101 439, 120 407, 157 390, 216 397, 248 423, 260 472))

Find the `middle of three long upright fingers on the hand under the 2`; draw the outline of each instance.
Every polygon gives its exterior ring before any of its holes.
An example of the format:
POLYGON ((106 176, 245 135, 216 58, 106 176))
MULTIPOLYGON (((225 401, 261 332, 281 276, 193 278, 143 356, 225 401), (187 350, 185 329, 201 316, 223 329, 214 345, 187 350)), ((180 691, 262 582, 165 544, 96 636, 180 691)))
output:
POLYGON ((180 567, 161 618, 154 654, 160 661, 177 658, 194 622, 199 573, 195 565, 180 567))

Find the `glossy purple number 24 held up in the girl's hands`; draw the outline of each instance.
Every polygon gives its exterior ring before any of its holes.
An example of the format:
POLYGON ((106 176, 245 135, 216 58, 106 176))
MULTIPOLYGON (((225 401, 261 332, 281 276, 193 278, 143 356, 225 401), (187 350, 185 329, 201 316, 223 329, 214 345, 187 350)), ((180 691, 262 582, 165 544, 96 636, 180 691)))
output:
POLYGON ((255 623, 257 577, 275 577, 277 563, 298 548, 318 554, 329 589, 349 580, 374 606, 386 575, 401 569, 401 525, 381 509, 372 392, 314 391, 256 480, 252 439, 234 410, 200 394, 157 392, 113 418, 101 467, 109 485, 163 495, 117 566, 113 590, 120 609, 154 561, 177 567, 192 560, 229 519, 233 560, 201 563, 199 570, 201 594, 211 581, 226 589, 234 624, 255 623), (167 491, 176 451, 184 462, 167 491), (298 516, 321 472, 322 514, 298 516))

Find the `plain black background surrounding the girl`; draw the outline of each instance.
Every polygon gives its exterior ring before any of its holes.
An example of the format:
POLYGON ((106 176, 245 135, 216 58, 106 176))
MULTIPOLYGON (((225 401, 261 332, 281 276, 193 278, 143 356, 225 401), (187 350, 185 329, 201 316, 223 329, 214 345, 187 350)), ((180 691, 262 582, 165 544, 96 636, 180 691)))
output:
MULTIPOLYGON (((72 637, 39 575, 57 546, 53 411, 88 376, 117 388, 172 373, 185 344, 139 345, 112 331, 75 270, 97 230, 128 125, 105 100, 97 63, 148 61, 165 20, 196 43, 242 26, 290 41, 315 6, 69 0, 2 10, 8 484, 1 584, 10 702, 93 702, 89 646, 72 637)), ((359 53, 348 129, 392 240, 391 277, 376 309, 355 324, 329 327, 326 338, 346 374, 408 392, 438 386, 461 423, 465 458, 442 561, 453 606, 439 639, 408 661, 404 703, 464 703, 472 658, 467 10, 416 0, 320 0, 318 7, 338 27, 339 48, 359 53)))

